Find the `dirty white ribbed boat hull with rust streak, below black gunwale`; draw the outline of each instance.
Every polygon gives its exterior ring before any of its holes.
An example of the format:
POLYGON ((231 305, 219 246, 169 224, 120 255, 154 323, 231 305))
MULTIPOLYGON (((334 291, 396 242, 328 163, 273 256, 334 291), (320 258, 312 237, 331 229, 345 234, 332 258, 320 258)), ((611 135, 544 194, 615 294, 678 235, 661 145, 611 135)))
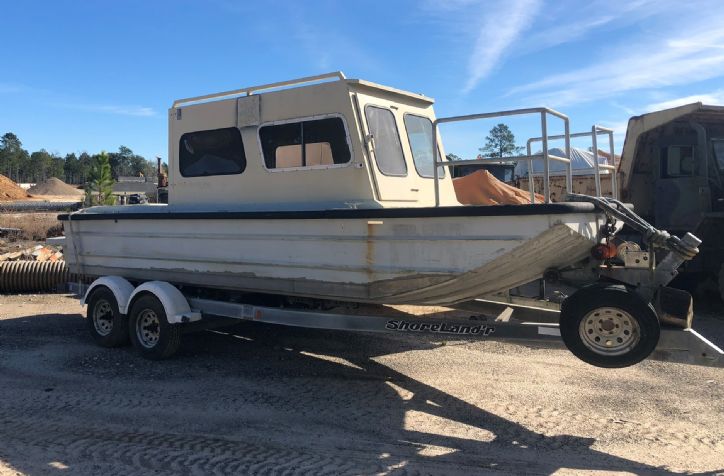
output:
POLYGON ((109 215, 64 221, 72 272, 389 304, 450 304, 530 282, 588 256, 604 219, 593 209, 422 219, 109 215))

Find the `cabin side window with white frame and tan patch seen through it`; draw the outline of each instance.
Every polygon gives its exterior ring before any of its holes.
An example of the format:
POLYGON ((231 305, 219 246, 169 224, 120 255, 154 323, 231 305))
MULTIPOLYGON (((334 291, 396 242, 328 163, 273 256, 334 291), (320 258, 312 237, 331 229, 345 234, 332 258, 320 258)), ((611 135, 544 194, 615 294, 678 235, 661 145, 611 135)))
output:
POLYGON ((339 117, 262 126, 259 140, 268 169, 333 166, 352 160, 339 117))

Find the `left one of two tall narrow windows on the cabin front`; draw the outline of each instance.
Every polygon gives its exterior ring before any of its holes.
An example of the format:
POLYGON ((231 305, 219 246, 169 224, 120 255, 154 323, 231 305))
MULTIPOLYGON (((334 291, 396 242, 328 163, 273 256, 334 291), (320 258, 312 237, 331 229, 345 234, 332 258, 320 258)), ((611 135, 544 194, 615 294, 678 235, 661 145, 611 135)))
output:
POLYGON ((375 161, 385 175, 404 177, 407 164, 402 154, 400 134, 397 132, 395 116, 389 109, 367 106, 365 108, 367 125, 374 140, 375 161))

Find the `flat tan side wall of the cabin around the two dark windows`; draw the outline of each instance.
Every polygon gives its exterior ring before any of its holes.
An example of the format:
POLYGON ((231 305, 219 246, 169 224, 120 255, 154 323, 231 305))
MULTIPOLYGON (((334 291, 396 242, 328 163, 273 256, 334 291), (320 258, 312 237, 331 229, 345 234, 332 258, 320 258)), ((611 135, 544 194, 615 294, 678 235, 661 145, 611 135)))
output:
POLYGON ((295 202, 371 201, 373 194, 356 133, 355 115, 341 82, 260 94, 260 124, 241 127, 246 169, 237 175, 182 177, 178 144, 186 132, 235 127, 236 98, 182 108, 182 119, 170 111, 169 203, 172 204, 294 204, 295 202), (351 161, 329 168, 268 170, 260 149, 260 125, 289 119, 336 115, 343 118, 349 136, 351 161))

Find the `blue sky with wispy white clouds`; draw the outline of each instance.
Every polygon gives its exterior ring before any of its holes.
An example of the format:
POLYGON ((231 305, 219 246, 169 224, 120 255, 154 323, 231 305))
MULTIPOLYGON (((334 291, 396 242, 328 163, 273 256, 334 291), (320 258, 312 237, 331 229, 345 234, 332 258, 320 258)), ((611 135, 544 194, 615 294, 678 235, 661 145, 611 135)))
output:
MULTIPOLYGON (((167 155, 175 99, 341 70, 420 92, 438 117, 547 106, 572 131, 724 104, 721 0, 0 0, 0 134, 30 151, 167 155)), ((498 122, 445 125, 473 158, 498 122)), ((562 132, 550 120, 549 133, 562 132)), ((574 142, 580 147, 590 141, 574 142)))

